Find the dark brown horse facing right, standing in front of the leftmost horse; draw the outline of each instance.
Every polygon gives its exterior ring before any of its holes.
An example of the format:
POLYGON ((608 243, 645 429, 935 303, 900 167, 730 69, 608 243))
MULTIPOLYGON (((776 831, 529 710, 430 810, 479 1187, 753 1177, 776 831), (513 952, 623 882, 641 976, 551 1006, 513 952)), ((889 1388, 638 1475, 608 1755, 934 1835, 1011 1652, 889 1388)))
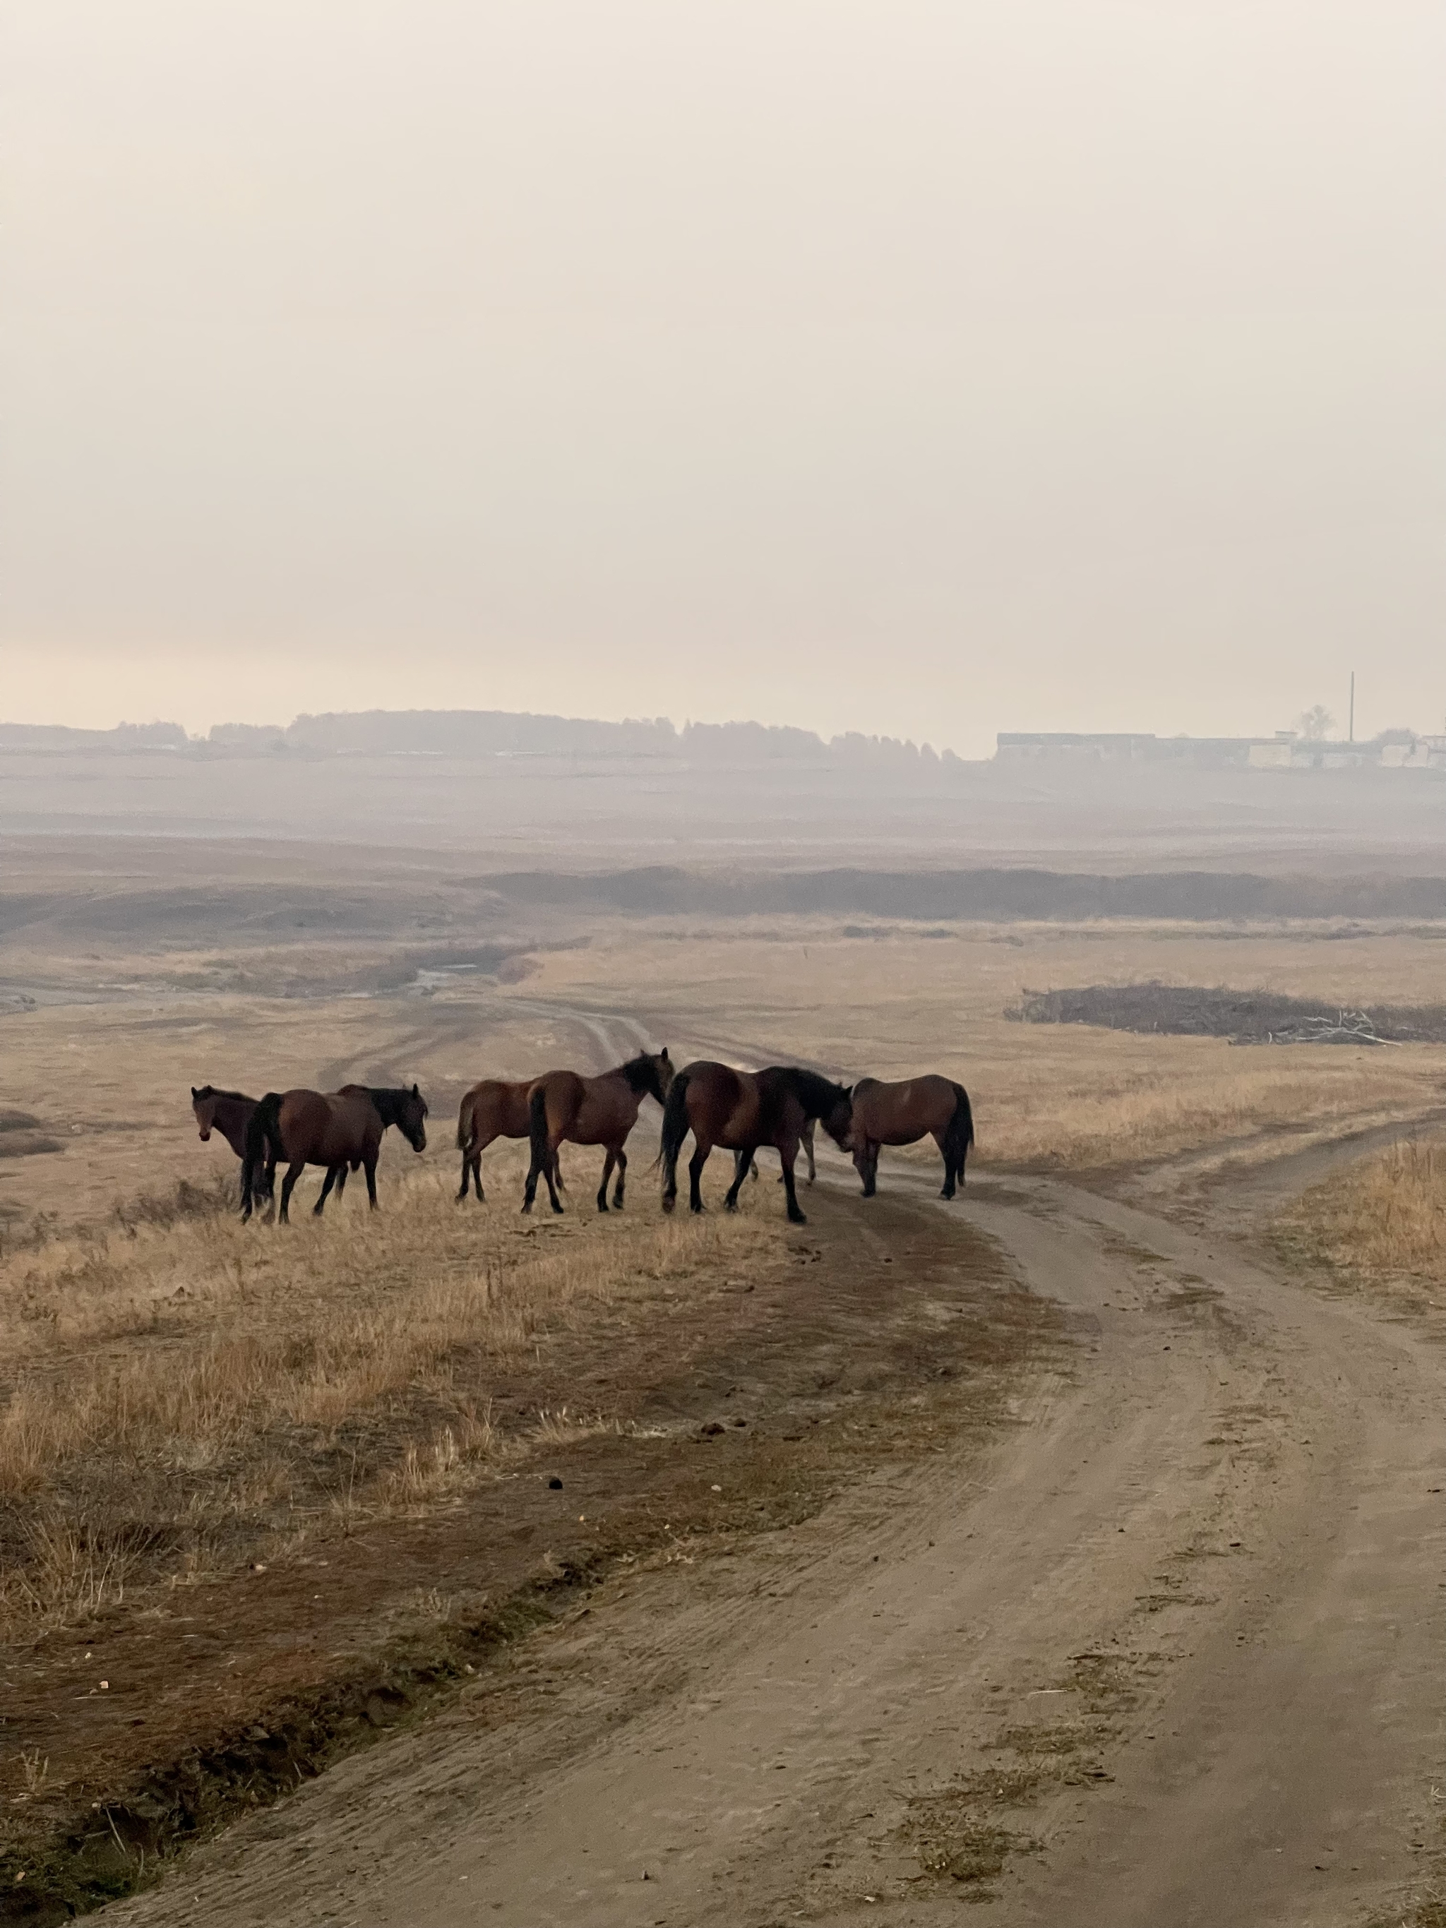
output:
POLYGON ((312 1205, 320 1217, 337 1176, 361 1165, 366 1197, 376 1211, 376 1161, 382 1134, 397 1126, 413 1151, 426 1151, 426 1099, 416 1085, 384 1091, 374 1085, 347 1085, 343 1091, 268 1091, 247 1124, 247 1155, 241 1165, 241 1220, 251 1217, 253 1176, 270 1143, 287 1159, 281 1184, 281 1224, 289 1224, 291 1192, 308 1165, 326 1166, 322 1195, 312 1205))

